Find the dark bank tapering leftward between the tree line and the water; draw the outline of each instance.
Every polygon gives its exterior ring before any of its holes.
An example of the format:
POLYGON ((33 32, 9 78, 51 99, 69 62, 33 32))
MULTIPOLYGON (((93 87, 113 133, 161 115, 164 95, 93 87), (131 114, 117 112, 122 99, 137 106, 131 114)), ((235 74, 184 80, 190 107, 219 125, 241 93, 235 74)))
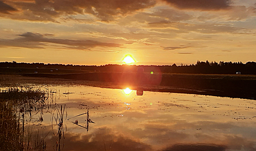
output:
POLYGON ((232 98, 256 99, 254 75, 215 74, 147 74, 147 73, 78 73, 78 74, 23 74, 46 77, 96 81, 99 87, 121 89, 131 86, 143 91, 191 93, 232 98), (99 84, 102 83, 102 84, 99 84), (111 83, 109 84, 105 83, 111 83))

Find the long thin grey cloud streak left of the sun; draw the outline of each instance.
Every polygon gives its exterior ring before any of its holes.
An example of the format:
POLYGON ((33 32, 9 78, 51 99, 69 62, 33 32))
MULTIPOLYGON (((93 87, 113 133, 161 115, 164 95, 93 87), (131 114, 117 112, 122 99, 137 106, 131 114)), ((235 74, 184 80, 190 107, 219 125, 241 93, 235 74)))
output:
POLYGON ((23 48, 44 48, 46 43, 54 43, 62 45, 66 48, 89 50, 94 47, 121 47, 117 43, 105 43, 94 40, 69 40, 69 39, 53 39, 47 36, 52 34, 39 34, 39 33, 23 33, 21 37, 16 39, 3 40, 0 39, 0 47, 23 47, 23 48))

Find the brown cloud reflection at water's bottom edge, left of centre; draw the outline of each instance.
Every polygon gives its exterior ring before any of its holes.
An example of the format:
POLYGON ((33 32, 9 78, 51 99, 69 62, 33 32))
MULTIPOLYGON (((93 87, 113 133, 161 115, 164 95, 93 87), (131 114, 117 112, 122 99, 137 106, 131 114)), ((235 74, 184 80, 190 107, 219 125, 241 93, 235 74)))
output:
MULTIPOLYGON (((46 138, 48 139, 48 137, 46 138)), ((54 142, 54 137, 49 137, 51 140, 45 140, 46 142, 54 142)), ((112 129, 99 128, 83 135, 80 134, 65 134, 65 146, 64 150, 123 150, 123 151, 140 151, 140 150, 153 150, 149 144, 132 140, 122 133, 113 133, 112 129)), ((48 143, 47 143, 48 144, 48 143)), ((50 143, 51 144, 51 143, 50 143)))

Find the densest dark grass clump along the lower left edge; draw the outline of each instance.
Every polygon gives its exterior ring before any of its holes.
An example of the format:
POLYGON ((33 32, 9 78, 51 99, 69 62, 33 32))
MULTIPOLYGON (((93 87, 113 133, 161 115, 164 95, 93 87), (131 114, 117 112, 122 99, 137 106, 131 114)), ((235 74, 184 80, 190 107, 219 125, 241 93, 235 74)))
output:
POLYGON ((24 108, 45 99, 40 90, 10 88, 0 92, 0 150, 30 150, 24 136, 24 108))

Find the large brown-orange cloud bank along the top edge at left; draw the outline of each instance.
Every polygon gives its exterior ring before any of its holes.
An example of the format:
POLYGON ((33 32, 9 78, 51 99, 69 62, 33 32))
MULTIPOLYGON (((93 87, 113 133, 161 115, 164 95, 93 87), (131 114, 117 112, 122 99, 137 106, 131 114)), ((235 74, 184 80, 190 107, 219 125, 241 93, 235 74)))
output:
POLYGON ((115 16, 124 16, 132 12, 153 7, 154 0, 35 0, 31 1, 13 1, 15 7, 21 10, 15 16, 9 16, 17 20, 31 21, 52 21, 57 22, 56 18, 60 16, 90 14, 99 18, 101 21, 112 21, 115 16))

